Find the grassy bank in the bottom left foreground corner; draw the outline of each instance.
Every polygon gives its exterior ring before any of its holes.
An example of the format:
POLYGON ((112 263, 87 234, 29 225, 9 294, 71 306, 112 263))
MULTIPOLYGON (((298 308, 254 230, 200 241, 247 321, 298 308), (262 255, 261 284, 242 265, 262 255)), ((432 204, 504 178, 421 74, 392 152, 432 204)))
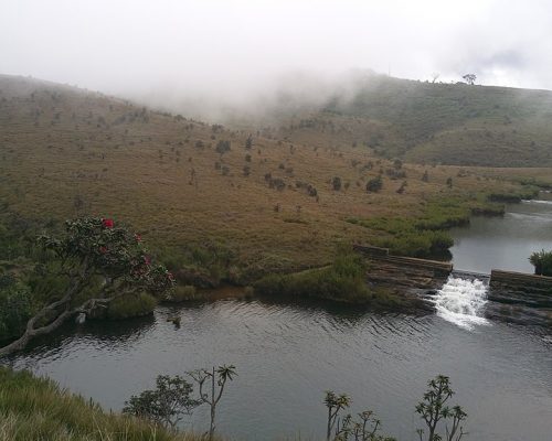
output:
POLYGON ((195 441, 113 412, 54 381, 0 367, 1 441, 195 441))

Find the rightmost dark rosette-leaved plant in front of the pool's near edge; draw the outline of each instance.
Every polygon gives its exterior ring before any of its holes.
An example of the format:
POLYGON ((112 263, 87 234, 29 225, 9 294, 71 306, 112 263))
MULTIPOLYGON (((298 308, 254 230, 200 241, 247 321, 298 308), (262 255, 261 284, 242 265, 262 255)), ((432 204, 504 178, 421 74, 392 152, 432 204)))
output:
MULTIPOLYGON (((450 389, 449 378, 444 375, 438 375, 427 383, 427 391, 424 394, 423 400, 416 406, 416 412, 425 421, 427 426, 427 441, 459 441, 466 432, 461 427, 461 422, 467 418, 467 413, 459 406, 449 408, 447 402, 454 395, 450 389), (445 438, 437 433, 439 421, 445 422, 445 438), (450 422, 450 426, 448 426, 450 422)), ((424 441, 426 432, 418 429, 417 434, 420 441, 424 441)))

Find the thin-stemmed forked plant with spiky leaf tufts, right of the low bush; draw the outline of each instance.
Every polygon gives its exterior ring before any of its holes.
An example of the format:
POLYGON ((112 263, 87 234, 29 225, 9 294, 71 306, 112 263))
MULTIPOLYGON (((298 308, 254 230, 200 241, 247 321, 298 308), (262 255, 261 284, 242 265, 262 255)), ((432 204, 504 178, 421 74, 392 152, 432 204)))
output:
POLYGON ((209 405, 211 408, 211 423, 209 427, 209 440, 212 440, 214 437, 215 429, 215 417, 216 417, 216 405, 221 400, 222 392, 224 391, 224 386, 226 381, 232 381, 234 376, 236 376, 236 367, 233 365, 212 367, 211 370, 208 369, 199 369, 189 373, 189 375, 193 378, 193 380, 200 387, 200 400, 209 405), (211 390, 209 392, 204 392, 205 383, 208 386, 211 386, 211 390), (210 385, 209 385, 210 384, 210 385))

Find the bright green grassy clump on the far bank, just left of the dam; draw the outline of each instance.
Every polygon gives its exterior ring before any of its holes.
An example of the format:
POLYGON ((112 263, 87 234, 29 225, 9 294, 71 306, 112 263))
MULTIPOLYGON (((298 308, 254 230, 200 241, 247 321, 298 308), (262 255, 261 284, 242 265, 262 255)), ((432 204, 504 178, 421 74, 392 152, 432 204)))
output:
POLYGON ((254 283, 256 292, 268 295, 315 297, 368 302, 373 299, 365 280, 365 262, 353 252, 340 252, 332 265, 291 275, 269 275, 254 283))

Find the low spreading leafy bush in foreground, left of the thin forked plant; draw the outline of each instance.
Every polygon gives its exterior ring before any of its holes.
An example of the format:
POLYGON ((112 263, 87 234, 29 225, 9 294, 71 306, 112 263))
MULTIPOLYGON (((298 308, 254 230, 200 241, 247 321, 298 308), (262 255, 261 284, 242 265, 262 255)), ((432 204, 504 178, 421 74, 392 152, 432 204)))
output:
POLYGON ((180 376, 159 375, 156 389, 145 390, 125 401, 124 413, 146 418, 174 429, 184 416, 192 415, 202 401, 191 397, 193 387, 180 376))

